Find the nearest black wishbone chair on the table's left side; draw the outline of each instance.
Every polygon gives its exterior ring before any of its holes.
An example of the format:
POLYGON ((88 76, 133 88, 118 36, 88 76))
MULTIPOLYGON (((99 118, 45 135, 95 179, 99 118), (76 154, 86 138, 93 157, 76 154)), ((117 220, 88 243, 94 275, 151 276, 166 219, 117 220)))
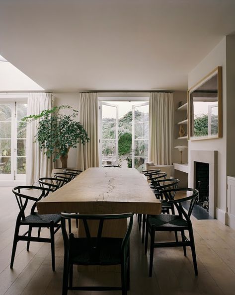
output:
POLYGON ((17 186, 12 189, 16 197, 17 204, 19 206, 20 212, 16 219, 15 224, 15 233, 14 233, 14 240, 13 240, 13 247, 12 247, 12 254, 11 254, 11 261, 10 261, 10 268, 13 268, 15 251, 18 241, 27 241, 27 251, 29 250, 30 242, 46 242, 51 243, 51 255, 52 255, 52 270, 55 271, 55 233, 61 227, 59 222, 61 221, 60 214, 38 214, 35 212, 36 203, 37 201, 41 200, 45 196, 49 194, 53 190, 38 186, 17 186), (32 189, 40 191, 40 196, 35 197, 32 196, 32 189), (31 208, 30 215, 25 216, 25 209, 28 205, 28 201, 34 201, 33 206, 31 208), (19 234, 19 228, 21 225, 27 225, 28 230, 23 233, 19 234), (32 228, 38 228, 38 235, 37 237, 31 236, 32 228), (43 238, 40 237, 41 228, 47 227, 50 228, 50 238, 43 238))

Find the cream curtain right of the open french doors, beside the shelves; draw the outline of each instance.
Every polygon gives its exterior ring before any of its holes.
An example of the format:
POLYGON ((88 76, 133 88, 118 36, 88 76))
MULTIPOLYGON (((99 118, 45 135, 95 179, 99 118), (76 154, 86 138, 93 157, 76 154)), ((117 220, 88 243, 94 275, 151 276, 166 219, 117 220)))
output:
POLYGON ((150 148, 149 161, 157 165, 172 163, 173 148, 173 93, 150 94, 150 148))

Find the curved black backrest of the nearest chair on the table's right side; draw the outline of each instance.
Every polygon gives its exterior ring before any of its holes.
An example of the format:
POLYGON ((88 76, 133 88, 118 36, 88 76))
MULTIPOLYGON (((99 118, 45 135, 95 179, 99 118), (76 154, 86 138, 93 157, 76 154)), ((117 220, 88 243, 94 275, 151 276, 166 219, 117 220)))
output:
POLYGON ((198 199, 198 190, 193 188, 175 188, 169 190, 162 190, 162 194, 164 195, 165 199, 168 201, 169 204, 175 205, 180 217, 184 216, 187 221, 190 220, 193 207, 198 199), (175 199, 175 194, 179 192, 185 194, 186 196, 180 199, 175 199), (188 196, 189 192, 191 193, 190 196, 188 196), (188 209, 188 213, 186 213, 181 203, 189 200, 191 200, 191 202, 188 209))

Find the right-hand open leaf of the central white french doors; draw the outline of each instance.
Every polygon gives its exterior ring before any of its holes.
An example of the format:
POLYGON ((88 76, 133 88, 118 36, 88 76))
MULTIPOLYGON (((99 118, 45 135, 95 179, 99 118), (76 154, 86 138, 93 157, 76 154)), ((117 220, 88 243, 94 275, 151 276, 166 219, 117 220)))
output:
POLYGON ((149 102, 133 105, 132 167, 141 169, 149 157, 149 102))

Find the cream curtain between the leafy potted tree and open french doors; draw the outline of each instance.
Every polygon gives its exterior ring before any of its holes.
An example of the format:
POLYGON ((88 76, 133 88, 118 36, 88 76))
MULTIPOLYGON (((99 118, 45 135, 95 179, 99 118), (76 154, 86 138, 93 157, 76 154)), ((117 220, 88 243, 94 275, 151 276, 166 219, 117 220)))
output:
POLYGON ((90 139, 83 146, 78 144, 77 167, 85 170, 99 166, 98 151, 98 97, 97 93, 79 93, 78 118, 90 139))

